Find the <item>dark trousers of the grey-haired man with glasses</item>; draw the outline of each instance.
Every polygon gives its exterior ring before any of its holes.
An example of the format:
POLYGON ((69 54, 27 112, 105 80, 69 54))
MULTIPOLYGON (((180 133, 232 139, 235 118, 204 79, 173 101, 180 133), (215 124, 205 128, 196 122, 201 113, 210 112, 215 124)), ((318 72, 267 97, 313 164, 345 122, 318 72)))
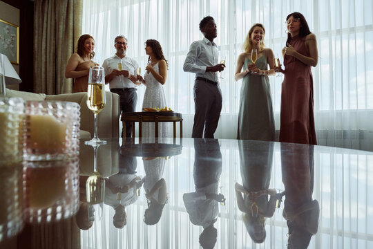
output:
MULTIPOLYGON (((133 89, 110 89, 112 93, 119 95, 119 112, 134 112, 137 104, 137 93, 133 89)), ((132 122, 126 122, 126 138, 131 138, 132 122)), ((122 134, 123 136, 123 134, 122 134)))

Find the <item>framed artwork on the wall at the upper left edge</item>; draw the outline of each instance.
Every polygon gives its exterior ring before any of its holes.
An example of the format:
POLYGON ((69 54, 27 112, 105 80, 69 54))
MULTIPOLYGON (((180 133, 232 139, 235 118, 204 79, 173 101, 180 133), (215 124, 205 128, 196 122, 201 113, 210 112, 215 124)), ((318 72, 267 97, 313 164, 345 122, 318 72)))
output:
POLYGON ((19 64, 19 26, 0 19, 0 53, 19 64))

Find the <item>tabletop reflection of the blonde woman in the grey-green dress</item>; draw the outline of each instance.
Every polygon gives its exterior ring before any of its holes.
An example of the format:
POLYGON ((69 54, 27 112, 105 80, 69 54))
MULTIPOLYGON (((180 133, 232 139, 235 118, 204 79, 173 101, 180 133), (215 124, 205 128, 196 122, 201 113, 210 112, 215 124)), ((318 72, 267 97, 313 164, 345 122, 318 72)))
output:
POLYGON ((251 239, 262 243, 266 237, 265 217, 273 216, 276 209, 276 190, 268 188, 274 143, 239 140, 238 146, 242 185, 235 186, 237 205, 251 239))

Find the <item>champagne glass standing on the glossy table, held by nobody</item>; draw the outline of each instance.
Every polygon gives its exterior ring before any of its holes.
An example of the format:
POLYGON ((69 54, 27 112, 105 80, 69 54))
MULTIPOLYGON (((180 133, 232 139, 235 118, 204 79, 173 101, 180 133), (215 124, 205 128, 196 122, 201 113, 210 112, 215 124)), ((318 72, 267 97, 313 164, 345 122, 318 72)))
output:
POLYGON ((105 73, 101 66, 89 68, 88 76, 88 91, 87 91, 87 107, 93 111, 95 116, 95 133, 93 138, 84 142, 86 145, 104 145, 106 141, 100 140, 97 137, 97 116, 106 103, 105 96, 105 73))

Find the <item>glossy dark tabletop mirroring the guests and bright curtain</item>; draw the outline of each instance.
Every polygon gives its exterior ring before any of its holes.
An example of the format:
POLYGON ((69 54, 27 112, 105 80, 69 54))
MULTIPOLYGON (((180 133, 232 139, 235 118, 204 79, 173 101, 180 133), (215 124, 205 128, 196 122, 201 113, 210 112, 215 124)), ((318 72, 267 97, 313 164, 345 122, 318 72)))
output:
POLYGON ((0 167, 0 221, 17 228, 3 232, 0 248, 372 247, 371 152, 249 140, 105 140, 97 149, 106 182, 101 220, 90 219, 87 202, 92 147, 70 163, 0 167))

